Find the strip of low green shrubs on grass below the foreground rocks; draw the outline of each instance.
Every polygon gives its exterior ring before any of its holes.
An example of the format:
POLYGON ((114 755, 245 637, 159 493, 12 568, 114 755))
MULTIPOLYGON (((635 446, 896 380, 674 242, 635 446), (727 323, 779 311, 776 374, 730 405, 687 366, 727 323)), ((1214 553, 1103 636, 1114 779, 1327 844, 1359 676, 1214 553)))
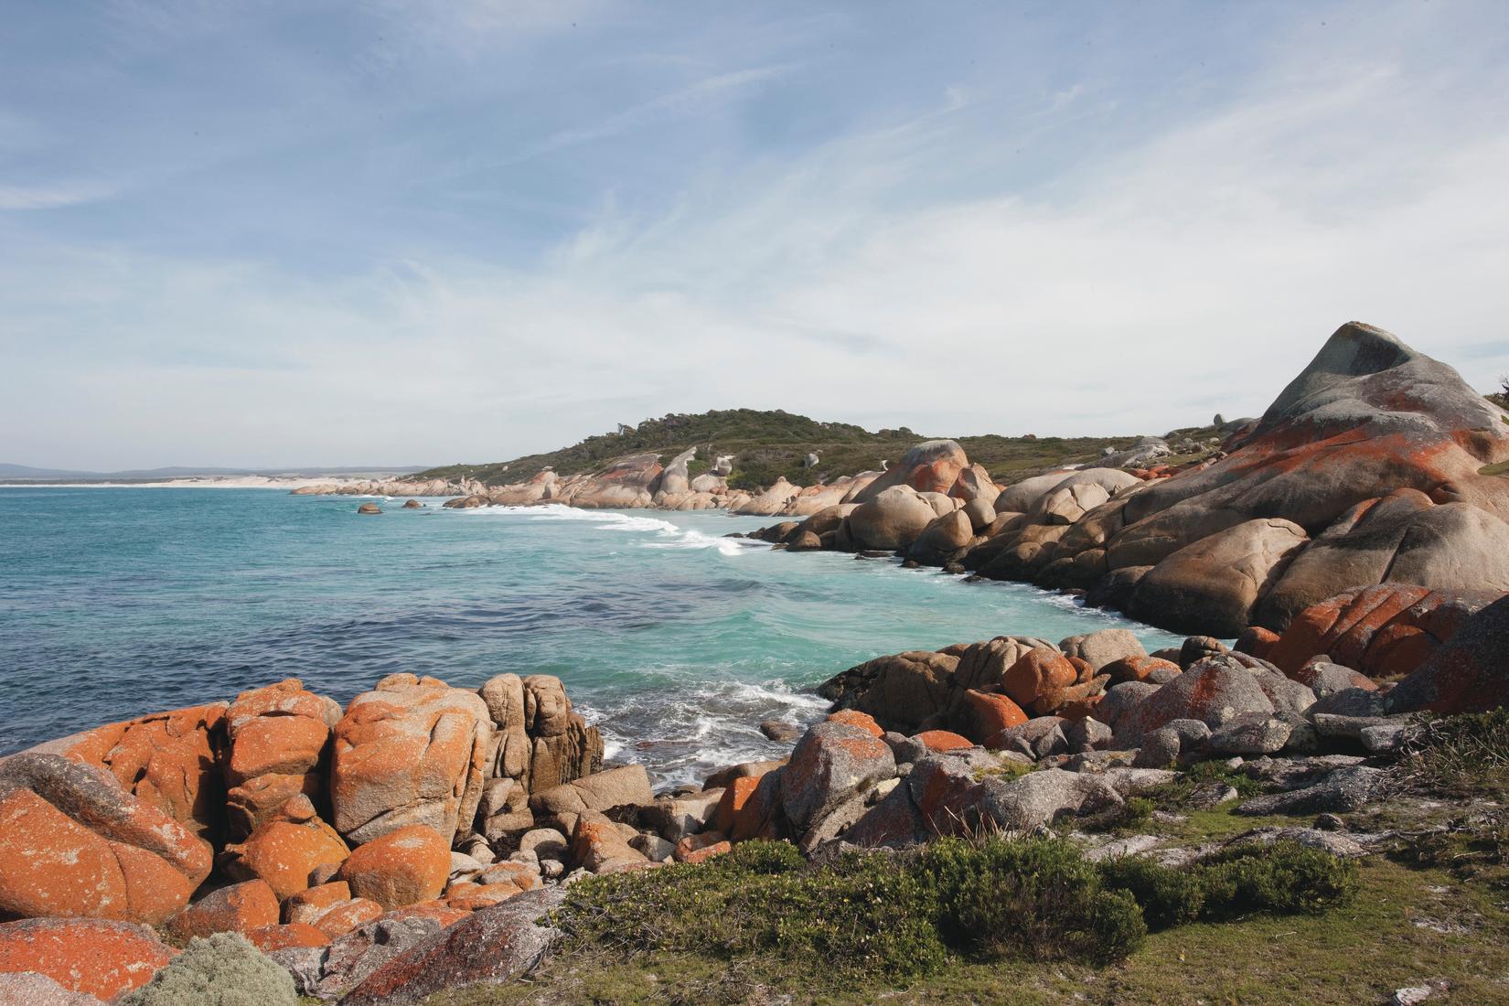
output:
POLYGON ((1135 953, 1150 928, 1345 905, 1355 870, 1292 843, 1171 869, 1093 863, 1056 836, 945 839, 822 866, 786 843, 747 842, 702 866, 585 879, 555 925, 563 959, 693 955, 729 967, 764 961, 822 983, 895 983, 964 961, 1105 965, 1135 953))

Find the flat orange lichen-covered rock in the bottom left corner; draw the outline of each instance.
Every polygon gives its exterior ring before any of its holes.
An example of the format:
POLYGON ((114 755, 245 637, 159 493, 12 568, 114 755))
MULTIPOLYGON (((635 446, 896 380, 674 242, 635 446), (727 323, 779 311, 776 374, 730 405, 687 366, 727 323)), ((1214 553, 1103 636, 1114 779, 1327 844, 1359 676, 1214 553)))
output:
POLYGON ((65 989, 112 1000, 151 980, 174 956, 146 926, 103 919, 0 923, 0 973, 36 971, 65 989))

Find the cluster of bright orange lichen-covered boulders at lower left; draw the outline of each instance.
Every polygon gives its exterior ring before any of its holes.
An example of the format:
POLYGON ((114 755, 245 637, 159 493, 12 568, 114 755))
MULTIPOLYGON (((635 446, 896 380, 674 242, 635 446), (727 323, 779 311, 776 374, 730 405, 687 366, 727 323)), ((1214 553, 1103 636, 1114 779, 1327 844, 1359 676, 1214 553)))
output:
POLYGON ((391 674, 344 710, 288 679, 41 745, 0 760, 0 976, 112 998, 172 958, 160 926, 344 980, 330 955, 350 934, 439 932, 578 866, 536 810, 573 834, 619 796, 650 802, 643 768, 626 795, 601 768, 560 680, 516 674, 477 691, 391 674), (585 796, 555 813, 564 790, 585 796))

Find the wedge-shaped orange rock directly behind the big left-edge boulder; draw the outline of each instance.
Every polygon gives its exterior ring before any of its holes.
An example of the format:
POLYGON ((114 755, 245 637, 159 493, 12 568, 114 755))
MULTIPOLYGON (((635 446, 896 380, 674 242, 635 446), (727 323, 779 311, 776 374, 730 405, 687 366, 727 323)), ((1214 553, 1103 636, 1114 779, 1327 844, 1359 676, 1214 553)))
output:
POLYGON ((214 842, 223 833, 225 703, 190 706, 80 735, 63 756, 101 768, 122 789, 214 842))

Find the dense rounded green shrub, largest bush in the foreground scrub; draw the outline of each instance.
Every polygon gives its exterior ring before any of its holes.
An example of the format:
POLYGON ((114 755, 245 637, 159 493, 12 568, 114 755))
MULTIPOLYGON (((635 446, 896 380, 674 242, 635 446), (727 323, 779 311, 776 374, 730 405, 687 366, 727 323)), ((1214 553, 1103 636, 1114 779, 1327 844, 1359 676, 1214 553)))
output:
POLYGON ((943 839, 919 860, 939 897, 945 940, 985 956, 1112 961, 1142 944, 1130 896, 1105 891, 1062 839, 943 839))

